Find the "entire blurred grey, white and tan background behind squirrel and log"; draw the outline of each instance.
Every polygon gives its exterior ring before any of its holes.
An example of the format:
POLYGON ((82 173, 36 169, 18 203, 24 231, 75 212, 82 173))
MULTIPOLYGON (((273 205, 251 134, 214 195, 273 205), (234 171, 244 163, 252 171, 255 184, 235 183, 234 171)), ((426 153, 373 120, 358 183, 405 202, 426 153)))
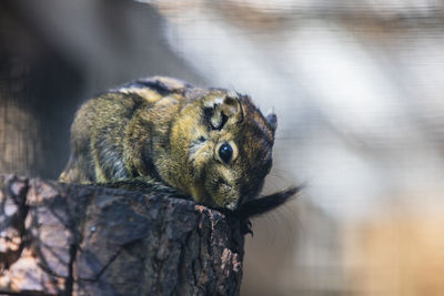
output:
POLYGON ((444 295, 444 2, 2 0, 0 172, 57 178, 77 108, 140 76, 279 118, 241 295, 444 295))

